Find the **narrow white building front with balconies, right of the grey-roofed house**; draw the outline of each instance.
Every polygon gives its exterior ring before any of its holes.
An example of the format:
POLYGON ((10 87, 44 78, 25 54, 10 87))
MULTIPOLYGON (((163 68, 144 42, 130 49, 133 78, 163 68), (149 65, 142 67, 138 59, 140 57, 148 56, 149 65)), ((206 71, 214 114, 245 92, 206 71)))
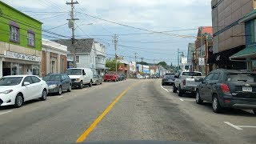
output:
POLYGON ((99 75, 105 74, 106 68, 106 47, 98 42, 94 42, 96 50, 96 72, 99 75))

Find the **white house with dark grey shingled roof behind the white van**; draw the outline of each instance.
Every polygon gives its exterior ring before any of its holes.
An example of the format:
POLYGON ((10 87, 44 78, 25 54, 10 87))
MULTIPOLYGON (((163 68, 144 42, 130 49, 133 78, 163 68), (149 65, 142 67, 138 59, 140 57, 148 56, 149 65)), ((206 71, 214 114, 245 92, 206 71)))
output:
POLYGON ((73 61, 73 50, 75 50, 76 66, 82 68, 90 68, 94 74, 97 74, 97 50, 95 49, 95 42, 93 38, 77 39, 74 42, 74 45, 70 39, 58 39, 54 40, 54 42, 58 42, 64 46, 67 46, 68 61, 73 61))

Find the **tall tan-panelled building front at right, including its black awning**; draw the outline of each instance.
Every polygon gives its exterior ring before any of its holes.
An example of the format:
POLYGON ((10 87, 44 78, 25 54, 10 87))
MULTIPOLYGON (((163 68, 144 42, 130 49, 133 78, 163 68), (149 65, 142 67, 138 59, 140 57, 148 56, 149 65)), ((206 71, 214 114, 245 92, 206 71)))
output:
POLYGON ((208 63, 214 69, 246 69, 246 62, 230 61, 230 56, 246 47, 244 25, 239 21, 254 9, 254 0, 212 0, 211 6, 214 54, 208 63))

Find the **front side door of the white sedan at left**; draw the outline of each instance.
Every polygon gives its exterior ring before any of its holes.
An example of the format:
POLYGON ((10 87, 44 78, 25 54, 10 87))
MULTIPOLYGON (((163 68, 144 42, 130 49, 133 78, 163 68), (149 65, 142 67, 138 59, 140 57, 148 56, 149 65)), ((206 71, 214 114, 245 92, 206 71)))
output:
POLYGON ((22 82, 22 86, 24 87, 24 90, 23 90, 24 101, 33 99, 35 96, 36 90, 30 76, 24 78, 22 82), (30 85, 24 86, 24 82, 30 82, 30 85))

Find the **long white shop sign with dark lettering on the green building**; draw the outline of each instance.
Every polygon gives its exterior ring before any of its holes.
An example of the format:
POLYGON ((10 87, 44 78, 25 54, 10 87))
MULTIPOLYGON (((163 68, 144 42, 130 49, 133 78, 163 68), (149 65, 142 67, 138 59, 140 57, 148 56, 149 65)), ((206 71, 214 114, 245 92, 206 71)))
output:
POLYGON ((6 57, 22 59, 22 60, 26 60, 26 61, 41 62, 41 57, 37 57, 34 55, 30 55, 30 54, 16 53, 16 52, 12 52, 12 51, 6 51, 6 57))

